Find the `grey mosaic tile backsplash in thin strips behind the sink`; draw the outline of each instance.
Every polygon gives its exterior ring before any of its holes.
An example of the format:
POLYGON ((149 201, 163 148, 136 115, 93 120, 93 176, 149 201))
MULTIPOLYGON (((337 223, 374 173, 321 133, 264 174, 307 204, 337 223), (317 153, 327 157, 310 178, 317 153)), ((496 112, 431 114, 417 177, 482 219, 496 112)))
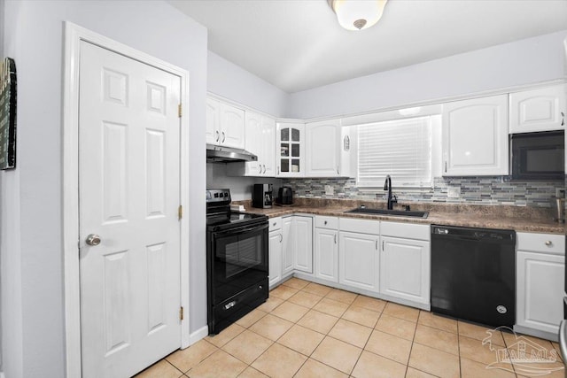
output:
MULTIPOLYGON (((436 177, 433 188, 400 189, 392 193, 398 201, 442 202, 448 204, 508 204, 515 206, 552 207, 555 189, 564 189, 563 181, 513 181, 504 176, 493 177, 436 177), (448 197, 449 190, 458 197, 448 197)), ((290 186, 297 197, 311 198, 356 198, 386 199, 382 188, 359 189, 353 178, 338 179, 283 179, 283 185, 290 186), (331 186, 333 195, 325 194, 325 186, 331 186)))

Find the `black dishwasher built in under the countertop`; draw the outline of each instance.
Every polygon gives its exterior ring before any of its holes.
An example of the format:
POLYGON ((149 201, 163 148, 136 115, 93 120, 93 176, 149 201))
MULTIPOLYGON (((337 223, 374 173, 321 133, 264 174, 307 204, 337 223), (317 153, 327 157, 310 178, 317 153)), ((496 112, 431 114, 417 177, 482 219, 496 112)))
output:
POLYGON ((431 312, 516 322, 516 232, 431 225, 431 312))

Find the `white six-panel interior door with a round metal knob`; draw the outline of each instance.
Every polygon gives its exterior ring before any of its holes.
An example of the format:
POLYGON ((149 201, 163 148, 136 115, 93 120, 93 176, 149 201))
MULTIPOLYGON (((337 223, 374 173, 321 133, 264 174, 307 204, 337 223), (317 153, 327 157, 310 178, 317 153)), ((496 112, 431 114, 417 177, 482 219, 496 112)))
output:
POLYGON ((127 377, 181 345, 181 81, 88 42, 80 60, 82 376, 127 377))

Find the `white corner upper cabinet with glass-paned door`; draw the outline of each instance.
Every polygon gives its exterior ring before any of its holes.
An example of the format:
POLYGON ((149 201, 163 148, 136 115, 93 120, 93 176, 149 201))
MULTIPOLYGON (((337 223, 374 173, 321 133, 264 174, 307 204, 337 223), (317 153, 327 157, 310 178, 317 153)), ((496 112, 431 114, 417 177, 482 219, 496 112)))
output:
POLYGON ((276 124, 276 176, 305 176, 305 125, 276 124))

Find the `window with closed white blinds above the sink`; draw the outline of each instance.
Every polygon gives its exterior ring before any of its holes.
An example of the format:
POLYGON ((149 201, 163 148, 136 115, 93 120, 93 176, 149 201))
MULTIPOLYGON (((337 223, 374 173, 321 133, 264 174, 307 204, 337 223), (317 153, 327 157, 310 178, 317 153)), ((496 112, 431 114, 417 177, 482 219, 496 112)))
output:
POLYGON ((358 187, 382 187, 387 174, 394 187, 432 186, 431 117, 358 126, 358 187))

